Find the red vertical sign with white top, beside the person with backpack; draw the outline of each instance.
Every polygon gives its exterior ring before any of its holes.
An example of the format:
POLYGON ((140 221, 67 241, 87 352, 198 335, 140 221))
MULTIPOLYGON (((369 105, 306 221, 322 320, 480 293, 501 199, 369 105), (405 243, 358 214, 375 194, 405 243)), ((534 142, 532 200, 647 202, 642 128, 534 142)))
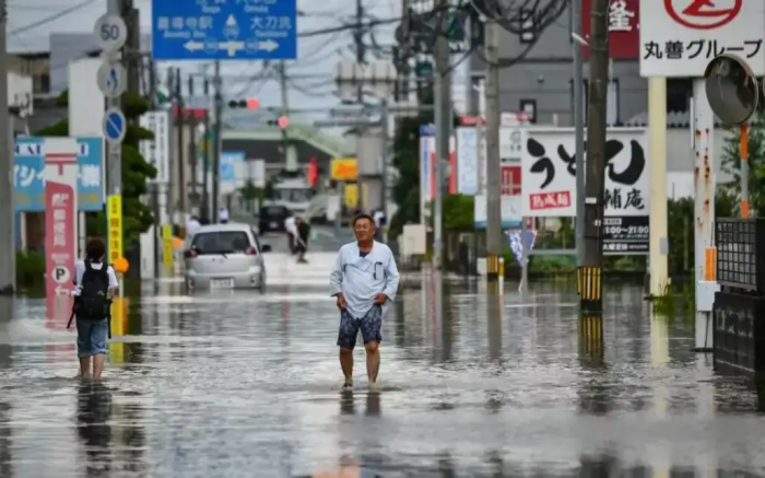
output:
POLYGON ((78 142, 45 139, 45 299, 50 328, 67 327, 78 247, 78 142))

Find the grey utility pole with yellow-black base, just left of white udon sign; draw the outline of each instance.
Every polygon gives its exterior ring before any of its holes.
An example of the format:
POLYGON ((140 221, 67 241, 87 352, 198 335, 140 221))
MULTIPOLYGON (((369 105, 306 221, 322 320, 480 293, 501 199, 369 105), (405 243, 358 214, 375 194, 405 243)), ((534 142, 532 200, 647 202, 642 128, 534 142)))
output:
POLYGON ((499 174, 499 25, 486 20, 486 279, 499 279, 502 178, 499 174))

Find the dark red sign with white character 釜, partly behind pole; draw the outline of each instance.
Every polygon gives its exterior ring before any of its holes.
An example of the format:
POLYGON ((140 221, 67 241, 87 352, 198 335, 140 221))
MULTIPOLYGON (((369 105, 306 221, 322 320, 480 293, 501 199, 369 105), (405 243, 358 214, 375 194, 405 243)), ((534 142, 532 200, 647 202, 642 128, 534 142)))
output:
MULTIPOLYGON (((660 0, 657 0, 660 1, 660 0)), ((640 57, 640 0, 612 0, 609 8, 609 56, 613 59, 638 59, 640 57)), ((581 32, 590 39, 592 0, 581 0, 581 32)), ((585 59, 590 49, 582 47, 585 59)))

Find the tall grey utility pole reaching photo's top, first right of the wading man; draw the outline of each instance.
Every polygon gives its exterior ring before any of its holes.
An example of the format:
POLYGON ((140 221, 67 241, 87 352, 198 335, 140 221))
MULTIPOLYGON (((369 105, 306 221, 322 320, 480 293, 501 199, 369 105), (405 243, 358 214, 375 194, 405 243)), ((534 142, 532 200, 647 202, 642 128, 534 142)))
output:
POLYGON ((436 270, 444 266, 444 164, 449 161, 449 140, 451 138, 451 63, 449 50, 447 10, 449 0, 438 0, 434 8, 438 14, 435 50, 435 123, 436 123, 436 161, 433 176, 436 182, 433 205, 433 266, 436 270))

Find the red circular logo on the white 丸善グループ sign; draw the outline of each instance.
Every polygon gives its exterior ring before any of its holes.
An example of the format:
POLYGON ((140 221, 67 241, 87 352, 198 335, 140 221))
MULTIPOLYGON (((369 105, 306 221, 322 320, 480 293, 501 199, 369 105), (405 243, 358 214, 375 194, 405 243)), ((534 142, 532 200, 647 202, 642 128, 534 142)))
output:
POLYGON ((725 26, 741 12, 743 0, 664 0, 667 13, 683 26, 713 30, 725 26))

